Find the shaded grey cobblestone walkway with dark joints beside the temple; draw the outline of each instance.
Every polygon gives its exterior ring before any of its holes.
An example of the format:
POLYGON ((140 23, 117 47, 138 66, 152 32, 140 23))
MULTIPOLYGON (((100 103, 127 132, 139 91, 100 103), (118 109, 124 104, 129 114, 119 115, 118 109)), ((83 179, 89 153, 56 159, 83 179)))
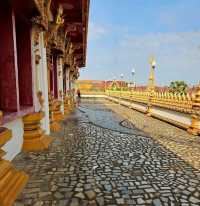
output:
POLYGON ((82 105, 49 150, 18 155, 30 181, 15 206, 200 205, 200 171, 122 119, 82 105))

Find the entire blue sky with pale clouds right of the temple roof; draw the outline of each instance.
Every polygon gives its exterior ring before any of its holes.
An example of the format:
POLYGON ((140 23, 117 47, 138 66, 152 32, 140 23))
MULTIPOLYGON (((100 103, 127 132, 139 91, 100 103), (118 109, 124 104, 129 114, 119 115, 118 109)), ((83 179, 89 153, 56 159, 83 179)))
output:
POLYGON ((87 66, 80 79, 146 84, 149 57, 156 83, 200 81, 200 0, 91 0, 87 66))

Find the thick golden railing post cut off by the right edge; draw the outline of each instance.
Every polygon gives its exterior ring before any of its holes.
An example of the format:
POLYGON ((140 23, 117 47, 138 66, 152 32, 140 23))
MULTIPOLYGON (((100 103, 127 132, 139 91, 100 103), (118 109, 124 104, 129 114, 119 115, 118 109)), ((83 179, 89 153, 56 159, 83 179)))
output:
POLYGON ((195 98, 192 100, 191 126, 188 132, 193 135, 200 134, 200 84, 197 87, 195 98))

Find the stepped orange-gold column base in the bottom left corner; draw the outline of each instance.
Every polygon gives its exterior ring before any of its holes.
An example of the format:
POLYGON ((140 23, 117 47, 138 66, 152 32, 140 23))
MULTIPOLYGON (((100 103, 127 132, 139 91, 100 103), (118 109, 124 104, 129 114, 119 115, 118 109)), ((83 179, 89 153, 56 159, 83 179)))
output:
MULTIPOLYGON (((0 111, 0 125, 3 113, 0 111)), ((11 162, 4 160, 5 152, 1 147, 12 137, 12 131, 0 127, 0 205, 13 205, 17 196, 21 193, 29 177, 26 173, 16 170, 11 162)))

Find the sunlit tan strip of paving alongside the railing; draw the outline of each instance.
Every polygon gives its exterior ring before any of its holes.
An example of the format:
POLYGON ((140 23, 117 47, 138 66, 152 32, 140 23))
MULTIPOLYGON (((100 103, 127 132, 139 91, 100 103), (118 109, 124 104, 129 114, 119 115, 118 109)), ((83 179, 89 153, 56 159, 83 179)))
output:
MULTIPOLYGON (((128 119, 131 123, 149 134, 158 143, 165 146, 176 155, 183 158, 194 168, 200 170, 200 137, 188 134, 185 130, 168 123, 148 117, 133 109, 107 102, 106 106, 112 111, 128 119)), ((123 122, 127 124, 126 121, 123 122)))

